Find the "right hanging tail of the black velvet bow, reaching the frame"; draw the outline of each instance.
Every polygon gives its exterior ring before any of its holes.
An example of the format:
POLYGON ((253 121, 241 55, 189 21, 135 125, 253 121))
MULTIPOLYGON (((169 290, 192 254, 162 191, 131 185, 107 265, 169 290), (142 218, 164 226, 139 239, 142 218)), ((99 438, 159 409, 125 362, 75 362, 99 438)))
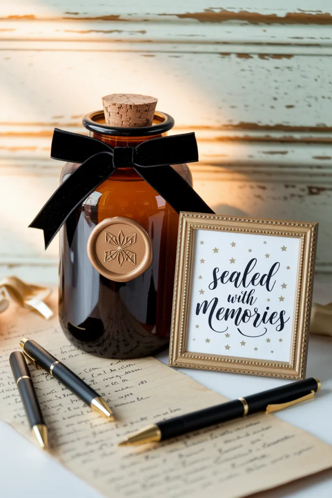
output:
POLYGON ((189 212, 215 214, 170 165, 157 168, 135 165, 134 169, 177 213, 183 211, 185 206, 189 212))

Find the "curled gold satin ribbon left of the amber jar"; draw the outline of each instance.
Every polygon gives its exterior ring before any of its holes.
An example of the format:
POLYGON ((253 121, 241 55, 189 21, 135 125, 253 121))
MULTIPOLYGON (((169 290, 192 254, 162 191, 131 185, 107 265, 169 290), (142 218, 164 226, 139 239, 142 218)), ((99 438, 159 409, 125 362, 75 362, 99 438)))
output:
POLYGON ((51 289, 47 287, 25 283, 14 276, 2 278, 0 280, 0 313, 8 307, 8 297, 10 297, 22 308, 36 310, 48 320, 54 313, 43 299, 51 292, 51 289))

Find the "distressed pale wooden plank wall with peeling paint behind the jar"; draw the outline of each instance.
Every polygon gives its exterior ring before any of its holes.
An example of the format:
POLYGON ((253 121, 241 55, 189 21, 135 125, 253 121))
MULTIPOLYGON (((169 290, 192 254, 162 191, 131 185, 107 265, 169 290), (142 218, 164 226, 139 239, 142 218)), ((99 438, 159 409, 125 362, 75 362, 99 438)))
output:
POLYGON ((58 184, 52 130, 81 132, 115 92, 196 131, 195 187, 217 212, 319 221, 332 271, 331 1, 164 3, 0 5, 0 275, 56 280, 58 242, 27 229, 58 184))

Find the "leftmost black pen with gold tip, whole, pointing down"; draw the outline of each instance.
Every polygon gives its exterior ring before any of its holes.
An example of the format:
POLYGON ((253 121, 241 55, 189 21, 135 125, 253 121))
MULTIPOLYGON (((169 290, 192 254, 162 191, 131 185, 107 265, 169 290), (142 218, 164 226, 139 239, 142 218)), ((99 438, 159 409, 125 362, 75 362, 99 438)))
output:
POLYGON ((30 425, 43 450, 48 448, 47 428, 40 410, 36 391, 30 376, 30 371, 20 351, 14 351, 9 356, 9 364, 17 385, 19 395, 30 425))

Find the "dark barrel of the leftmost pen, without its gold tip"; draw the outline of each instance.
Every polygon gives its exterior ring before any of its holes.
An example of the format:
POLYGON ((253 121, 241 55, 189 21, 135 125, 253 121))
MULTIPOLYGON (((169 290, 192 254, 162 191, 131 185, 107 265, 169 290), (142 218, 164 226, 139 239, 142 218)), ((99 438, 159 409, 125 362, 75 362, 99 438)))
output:
POLYGON ((30 428, 38 424, 44 425, 44 418, 24 356, 21 352, 14 351, 9 357, 9 363, 30 428))

